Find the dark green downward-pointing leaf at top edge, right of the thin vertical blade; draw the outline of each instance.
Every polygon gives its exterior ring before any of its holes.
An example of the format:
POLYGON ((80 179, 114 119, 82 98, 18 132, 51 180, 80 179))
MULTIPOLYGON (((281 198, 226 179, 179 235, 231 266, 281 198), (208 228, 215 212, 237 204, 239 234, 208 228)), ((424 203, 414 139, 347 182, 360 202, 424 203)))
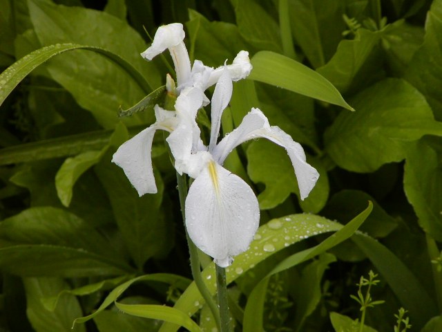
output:
POLYGON ((314 68, 334 55, 345 30, 340 0, 290 0, 291 31, 314 68))

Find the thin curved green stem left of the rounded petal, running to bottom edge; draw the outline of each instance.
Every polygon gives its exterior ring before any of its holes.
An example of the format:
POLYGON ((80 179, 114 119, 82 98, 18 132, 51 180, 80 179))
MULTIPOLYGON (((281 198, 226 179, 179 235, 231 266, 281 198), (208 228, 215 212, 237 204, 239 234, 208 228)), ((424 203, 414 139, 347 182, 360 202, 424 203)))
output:
MULTIPOLYGON (((186 181, 186 176, 184 174, 180 175, 177 173, 177 184, 178 184, 178 193, 180 194, 182 220, 185 221, 186 212, 184 210, 184 207, 187 196, 187 181, 186 181)), ((204 283, 204 280, 202 279, 201 270, 200 270, 200 259, 198 258, 198 248, 196 248, 195 244, 189 237, 187 230, 186 230, 186 239, 187 239, 187 245, 189 246, 189 255, 191 260, 191 271, 192 271, 193 281, 195 281, 198 291, 200 291, 204 301, 209 306, 213 318, 215 319, 216 326, 218 326, 218 330, 222 331, 220 312, 218 311, 218 307, 213 301, 209 289, 207 288, 206 284, 204 283)))

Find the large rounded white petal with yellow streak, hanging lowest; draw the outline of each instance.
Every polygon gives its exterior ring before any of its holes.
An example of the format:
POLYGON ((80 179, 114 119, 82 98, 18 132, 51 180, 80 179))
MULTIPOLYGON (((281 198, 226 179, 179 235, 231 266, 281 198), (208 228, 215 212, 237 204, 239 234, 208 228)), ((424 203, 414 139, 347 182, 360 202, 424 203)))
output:
POLYGON ((186 199, 186 228, 198 248, 219 266, 249 248, 258 229, 255 194, 240 177, 208 163, 193 181, 186 199))

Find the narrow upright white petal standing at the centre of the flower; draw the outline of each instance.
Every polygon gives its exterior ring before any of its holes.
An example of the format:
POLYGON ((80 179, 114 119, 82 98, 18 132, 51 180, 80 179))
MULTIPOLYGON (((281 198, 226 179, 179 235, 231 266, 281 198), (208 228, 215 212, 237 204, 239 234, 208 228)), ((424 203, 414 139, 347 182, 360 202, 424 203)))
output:
POLYGON ((212 104, 211 104, 211 132, 210 132, 210 143, 209 151, 215 147, 218 140, 218 135, 220 133, 221 116, 222 111, 227 107, 232 96, 232 80, 227 69, 224 69, 220 80, 215 86, 215 91, 213 92, 212 104))

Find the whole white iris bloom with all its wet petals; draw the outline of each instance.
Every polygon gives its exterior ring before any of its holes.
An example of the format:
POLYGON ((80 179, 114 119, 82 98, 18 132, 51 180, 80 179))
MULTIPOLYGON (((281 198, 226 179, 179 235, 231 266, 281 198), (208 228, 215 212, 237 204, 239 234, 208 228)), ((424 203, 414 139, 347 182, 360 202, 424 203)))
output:
POLYGON ((166 141, 175 158, 175 169, 195 179, 185 203, 189 236, 216 264, 226 267, 233 256, 247 250, 260 220, 258 199, 251 187, 222 167, 227 155, 254 138, 267 138, 284 147, 294 166, 301 199, 308 196, 319 174, 306 162, 302 147, 279 127, 271 127, 259 109, 251 109, 240 126, 218 142, 222 112, 231 99, 232 81, 247 77, 251 71, 248 53, 241 51, 233 64, 220 68, 204 66, 198 60, 191 68, 183 38, 181 24, 162 26, 152 46, 142 53, 152 59, 169 48, 180 93, 175 111, 156 105, 156 122, 119 147, 112 161, 124 169, 140 196, 157 192, 150 155, 153 135, 157 129, 169 131, 166 141), (198 109, 209 102, 204 91, 213 84, 216 86, 211 101, 211 136, 206 146, 200 139, 195 118, 198 109))

